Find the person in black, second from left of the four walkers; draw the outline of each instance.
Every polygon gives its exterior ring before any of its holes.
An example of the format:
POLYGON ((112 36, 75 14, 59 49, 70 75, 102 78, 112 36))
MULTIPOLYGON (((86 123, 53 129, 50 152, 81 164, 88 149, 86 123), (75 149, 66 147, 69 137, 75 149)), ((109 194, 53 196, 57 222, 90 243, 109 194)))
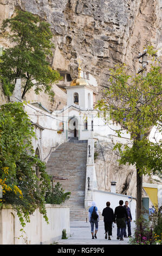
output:
POLYGON ((107 239, 107 231, 108 231, 108 240, 111 240, 111 235, 112 235, 112 223, 114 220, 114 211, 112 208, 110 208, 110 202, 106 203, 106 208, 103 209, 102 211, 102 216, 104 224, 105 224, 105 239, 107 239))

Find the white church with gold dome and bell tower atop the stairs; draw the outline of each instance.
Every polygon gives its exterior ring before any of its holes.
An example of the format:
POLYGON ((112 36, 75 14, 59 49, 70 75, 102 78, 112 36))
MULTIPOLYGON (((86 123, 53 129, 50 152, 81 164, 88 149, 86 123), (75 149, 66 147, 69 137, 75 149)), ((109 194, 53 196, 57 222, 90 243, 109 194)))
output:
MULTIPOLYGON (((52 113, 58 120, 61 120, 58 130, 62 132, 62 137, 66 141, 72 137, 79 140, 95 137, 110 141, 113 137, 117 137, 115 130, 120 129, 120 125, 113 124, 109 120, 108 112, 104 116, 104 113, 94 109, 98 94, 96 87, 89 79, 82 78, 81 68, 78 70, 78 77, 66 87, 67 106, 52 113)), ((129 139, 130 135, 124 131, 122 137, 129 139)))

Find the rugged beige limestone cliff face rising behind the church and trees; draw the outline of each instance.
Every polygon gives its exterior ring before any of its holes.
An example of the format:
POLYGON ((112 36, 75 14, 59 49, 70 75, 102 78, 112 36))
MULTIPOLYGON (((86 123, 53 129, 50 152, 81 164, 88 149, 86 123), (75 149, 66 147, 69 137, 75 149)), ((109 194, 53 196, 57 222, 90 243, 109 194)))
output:
MULTIPOLYGON (((82 69, 96 78, 99 87, 107 86, 108 69, 115 63, 125 62, 135 72, 139 63, 134 57, 143 46, 149 42, 159 49, 161 46, 160 0, 0 0, 0 23, 15 15, 16 8, 50 23, 54 69, 67 72, 73 79, 81 59, 82 69)), ((0 44, 8 46, 1 32, 0 44)), ((56 102, 60 101, 59 89, 57 95, 56 102)), ((61 97, 66 101, 65 94, 61 97)), ((48 103, 45 106, 49 108, 48 103)), ((95 163, 99 189, 109 191, 110 182, 115 180, 118 193, 135 196, 135 168, 118 166, 112 144, 103 143, 102 147, 105 162, 98 149, 95 163)))

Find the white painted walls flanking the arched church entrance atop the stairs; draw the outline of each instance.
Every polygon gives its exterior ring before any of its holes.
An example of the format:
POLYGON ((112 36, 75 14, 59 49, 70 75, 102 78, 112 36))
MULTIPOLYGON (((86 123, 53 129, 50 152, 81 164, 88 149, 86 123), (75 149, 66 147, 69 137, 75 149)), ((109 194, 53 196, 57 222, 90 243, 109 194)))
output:
MULTIPOLYGON (((90 90, 84 89, 84 93, 87 94, 87 104, 89 92, 92 93, 90 90)), ((93 97, 90 97, 90 99, 92 100, 93 97)), ((79 137, 80 140, 86 140, 88 138, 93 137, 105 141, 112 141, 113 139, 113 141, 124 140, 125 142, 126 138, 129 138, 129 134, 127 134, 126 132, 123 135, 125 138, 118 138, 117 136, 115 137, 115 133, 111 129, 112 126, 105 125, 102 118, 96 117, 97 112, 95 110, 83 111, 79 108, 79 106, 76 105, 76 107, 77 108, 73 106, 67 106, 60 111, 48 113, 29 103, 27 103, 27 105, 24 105, 24 109, 29 114, 29 118, 31 119, 31 121, 43 127, 43 130, 41 130, 39 127, 34 126, 34 131, 36 133, 37 139, 33 139, 34 150, 36 150, 36 148, 40 150, 40 156, 42 161, 47 162, 50 152, 54 151, 56 147, 58 147, 58 145, 67 141, 69 117, 76 117, 78 120, 77 137, 79 137), (88 117, 87 131, 83 130, 83 120, 85 120, 85 115, 88 117), (92 120, 94 130, 93 132, 91 123, 92 120), (59 124, 61 122, 64 123, 64 131, 61 134, 58 134, 57 131, 59 130, 59 124)), ((115 127, 113 128, 115 129, 115 127)))

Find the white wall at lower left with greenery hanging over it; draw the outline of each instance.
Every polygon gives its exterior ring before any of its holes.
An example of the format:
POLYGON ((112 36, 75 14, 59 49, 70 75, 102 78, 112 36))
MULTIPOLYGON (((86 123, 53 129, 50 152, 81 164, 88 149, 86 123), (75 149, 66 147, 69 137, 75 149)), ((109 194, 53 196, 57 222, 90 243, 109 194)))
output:
POLYGON ((46 204, 49 224, 36 209, 30 216, 30 223, 24 227, 23 238, 19 218, 14 209, 8 207, 0 210, 0 245, 50 244, 61 239, 63 229, 66 229, 67 235, 70 234, 70 212, 67 206, 46 204))

